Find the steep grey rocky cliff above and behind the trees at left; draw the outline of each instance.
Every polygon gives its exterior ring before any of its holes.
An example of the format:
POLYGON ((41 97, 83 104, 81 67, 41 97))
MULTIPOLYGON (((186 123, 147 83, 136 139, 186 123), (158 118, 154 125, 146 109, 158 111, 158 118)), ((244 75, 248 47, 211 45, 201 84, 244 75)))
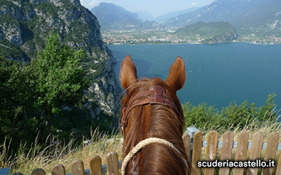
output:
POLYGON ((97 18, 79 0, 0 1, 0 55, 6 59, 35 59, 52 30, 60 34, 63 43, 86 52, 82 62, 91 84, 84 105, 92 118, 99 113, 118 113, 115 100, 121 89, 113 69, 114 57, 101 39, 97 18))

